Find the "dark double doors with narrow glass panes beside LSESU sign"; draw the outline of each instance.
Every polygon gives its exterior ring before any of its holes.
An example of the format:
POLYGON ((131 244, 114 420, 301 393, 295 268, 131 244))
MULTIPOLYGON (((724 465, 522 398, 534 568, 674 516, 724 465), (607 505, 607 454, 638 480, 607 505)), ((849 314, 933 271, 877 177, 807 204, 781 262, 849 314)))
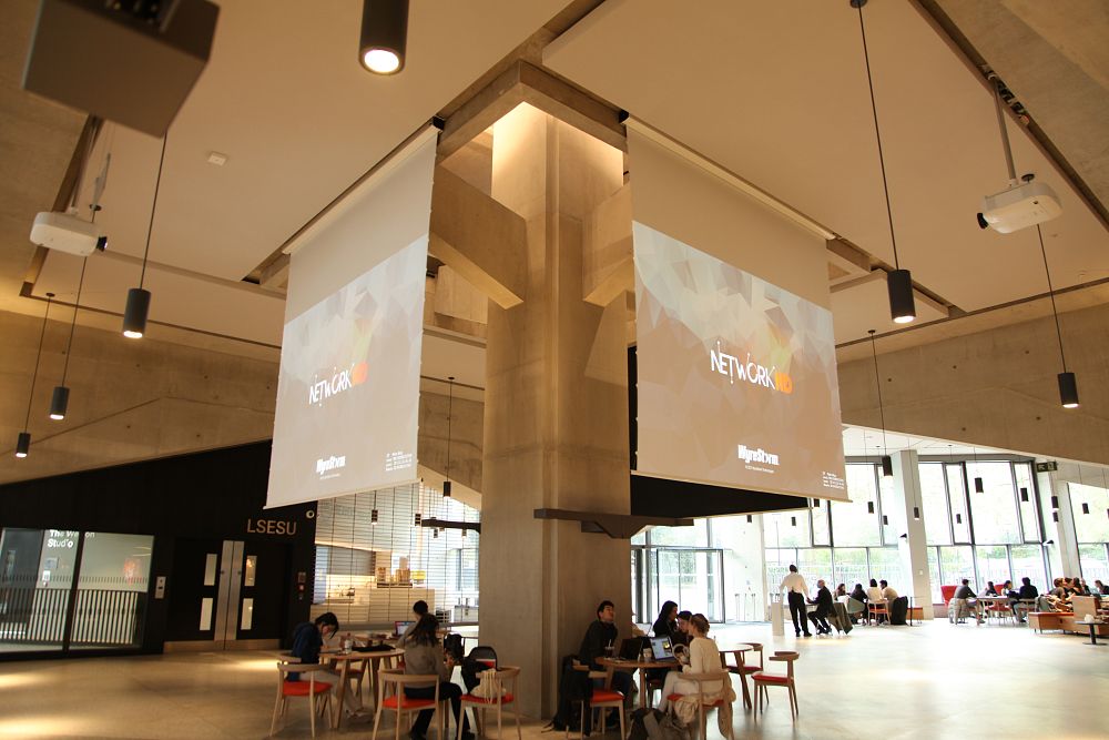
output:
POLYGON ((179 539, 166 625, 171 649, 276 647, 286 627, 288 548, 179 539))

